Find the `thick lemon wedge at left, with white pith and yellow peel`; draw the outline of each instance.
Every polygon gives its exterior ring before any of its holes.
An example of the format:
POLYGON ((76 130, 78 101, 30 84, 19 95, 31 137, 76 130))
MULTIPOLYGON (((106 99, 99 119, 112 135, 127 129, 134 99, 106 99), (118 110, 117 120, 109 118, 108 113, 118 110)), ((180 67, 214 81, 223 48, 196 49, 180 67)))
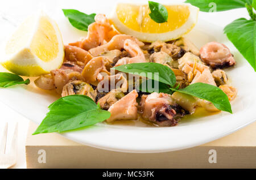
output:
POLYGON ((40 12, 26 19, 7 41, 1 64, 23 76, 39 76, 59 68, 64 45, 57 24, 40 12))

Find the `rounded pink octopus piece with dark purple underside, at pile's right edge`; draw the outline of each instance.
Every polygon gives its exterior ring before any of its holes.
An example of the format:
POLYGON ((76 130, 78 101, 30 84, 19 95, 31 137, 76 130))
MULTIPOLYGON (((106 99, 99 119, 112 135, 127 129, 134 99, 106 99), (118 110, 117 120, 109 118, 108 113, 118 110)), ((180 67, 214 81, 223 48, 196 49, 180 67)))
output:
POLYGON ((208 42, 200 49, 200 56, 213 69, 236 65, 229 48, 219 42, 208 42))

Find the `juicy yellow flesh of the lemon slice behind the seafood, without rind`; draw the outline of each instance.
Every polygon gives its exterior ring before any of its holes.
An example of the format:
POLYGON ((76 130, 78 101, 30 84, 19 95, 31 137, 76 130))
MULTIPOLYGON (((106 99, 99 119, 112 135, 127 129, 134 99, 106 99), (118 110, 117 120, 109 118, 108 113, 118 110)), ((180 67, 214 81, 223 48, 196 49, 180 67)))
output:
POLYGON ((184 5, 164 6, 168 11, 166 23, 156 23, 150 18, 148 5, 118 4, 117 17, 126 27, 138 32, 164 33, 180 28, 189 18, 189 7, 184 5))

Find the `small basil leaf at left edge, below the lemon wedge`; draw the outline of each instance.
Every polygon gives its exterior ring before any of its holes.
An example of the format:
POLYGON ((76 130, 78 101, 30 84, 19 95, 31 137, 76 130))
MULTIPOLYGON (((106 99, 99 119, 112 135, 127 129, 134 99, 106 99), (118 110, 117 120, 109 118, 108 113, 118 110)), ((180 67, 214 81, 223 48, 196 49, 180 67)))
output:
POLYGON ((20 76, 9 72, 0 72, 0 87, 6 88, 16 84, 29 84, 30 79, 23 80, 20 76))

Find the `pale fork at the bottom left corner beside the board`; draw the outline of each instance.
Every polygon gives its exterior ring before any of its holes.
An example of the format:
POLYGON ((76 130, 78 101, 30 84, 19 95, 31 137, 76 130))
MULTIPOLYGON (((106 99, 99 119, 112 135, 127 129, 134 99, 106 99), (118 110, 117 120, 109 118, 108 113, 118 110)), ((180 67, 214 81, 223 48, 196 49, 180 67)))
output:
POLYGON ((3 130, 2 140, 0 142, 0 168, 11 168, 16 164, 17 160, 17 138, 18 138, 18 123, 15 125, 13 139, 11 140, 10 152, 6 152, 8 123, 3 130))

